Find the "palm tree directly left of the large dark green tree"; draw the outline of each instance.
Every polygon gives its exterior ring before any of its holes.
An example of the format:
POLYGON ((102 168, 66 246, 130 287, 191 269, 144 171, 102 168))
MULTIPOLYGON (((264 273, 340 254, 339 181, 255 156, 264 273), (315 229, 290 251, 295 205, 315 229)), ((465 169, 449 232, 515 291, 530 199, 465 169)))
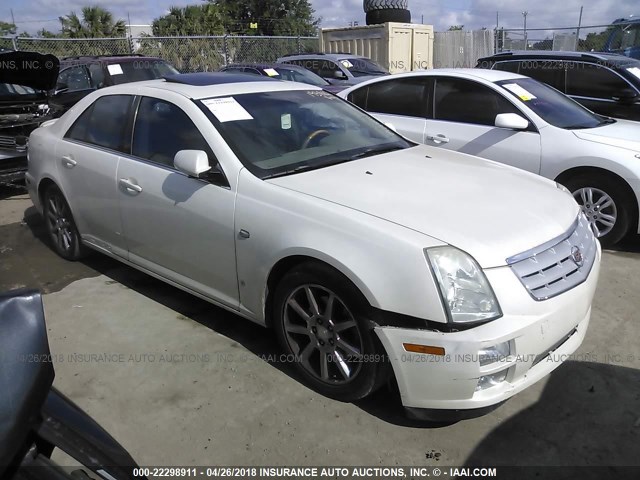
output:
POLYGON ((224 34, 222 10, 218 5, 171 7, 169 13, 156 18, 151 29, 157 37, 224 34))

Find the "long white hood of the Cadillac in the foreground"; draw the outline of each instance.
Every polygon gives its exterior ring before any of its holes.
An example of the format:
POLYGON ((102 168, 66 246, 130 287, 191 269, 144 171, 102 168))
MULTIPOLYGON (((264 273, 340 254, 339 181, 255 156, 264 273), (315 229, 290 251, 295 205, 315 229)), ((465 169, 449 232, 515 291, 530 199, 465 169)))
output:
POLYGON ((425 145, 267 181, 421 232, 483 268, 562 235, 579 212, 550 180, 425 145))

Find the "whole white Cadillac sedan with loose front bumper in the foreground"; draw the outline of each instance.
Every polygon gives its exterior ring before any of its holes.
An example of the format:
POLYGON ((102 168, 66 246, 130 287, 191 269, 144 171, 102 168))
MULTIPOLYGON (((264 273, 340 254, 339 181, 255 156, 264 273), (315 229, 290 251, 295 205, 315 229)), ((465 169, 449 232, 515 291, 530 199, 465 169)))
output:
POLYGON ((568 191, 416 145, 309 85, 176 75, 36 130, 27 185, 87 247, 273 328, 351 401, 395 375, 418 418, 482 413, 581 344, 600 246, 568 191))

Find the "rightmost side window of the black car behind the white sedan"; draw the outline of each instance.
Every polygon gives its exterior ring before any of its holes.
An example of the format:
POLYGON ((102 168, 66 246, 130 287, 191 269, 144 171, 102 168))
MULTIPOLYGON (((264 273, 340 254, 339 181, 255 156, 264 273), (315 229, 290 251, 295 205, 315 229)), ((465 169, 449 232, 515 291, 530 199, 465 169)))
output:
POLYGON ((576 63, 567 69, 567 95, 611 99, 626 88, 626 81, 601 65, 576 63))

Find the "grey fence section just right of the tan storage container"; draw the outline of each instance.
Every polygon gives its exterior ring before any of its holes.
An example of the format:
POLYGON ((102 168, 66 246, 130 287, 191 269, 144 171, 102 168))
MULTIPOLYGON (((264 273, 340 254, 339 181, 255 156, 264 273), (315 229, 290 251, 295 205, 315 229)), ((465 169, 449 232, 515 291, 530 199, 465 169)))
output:
POLYGON ((433 42, 435 68, 471 68, 479 58, 493 55, 495 35, 491 30, 436 32, 433 42))

